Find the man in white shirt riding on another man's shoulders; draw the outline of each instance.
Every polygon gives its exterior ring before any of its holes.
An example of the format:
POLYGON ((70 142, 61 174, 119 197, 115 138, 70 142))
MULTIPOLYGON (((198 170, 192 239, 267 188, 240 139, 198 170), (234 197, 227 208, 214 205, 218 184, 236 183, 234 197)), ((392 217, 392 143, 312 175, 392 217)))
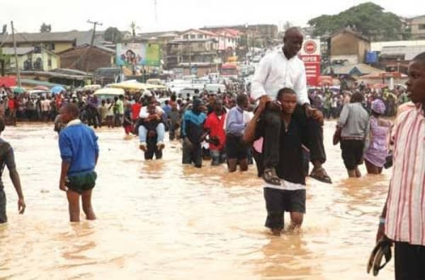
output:
POLYGON ((308 141, 310 141, 310 156, 314 165, 310 177, 322 182, 331 183, 322 164, 326 161, 323 146, 322 114, 310 106, 307 95, 307 81, 305 66, 297 57, 302 47, 303 36, 298 28, 289 28, 283 37, 283 49, 272 52, 261 59, 259 68, 254 74, 251 85, 251 97, 254 99, 269 100, 266 110, 263 112, 266 129, 264 132, 264 174, 263 178, 272 185, 280 185, 280 179, 276 175, 276 165, 279 162, 279 135, 281 128, 280 105, 276 95, 280 88, 292 88, 297 94, 298 107, 303 110, 295 110, 294 119, 305 119, 307 123, 308 141))

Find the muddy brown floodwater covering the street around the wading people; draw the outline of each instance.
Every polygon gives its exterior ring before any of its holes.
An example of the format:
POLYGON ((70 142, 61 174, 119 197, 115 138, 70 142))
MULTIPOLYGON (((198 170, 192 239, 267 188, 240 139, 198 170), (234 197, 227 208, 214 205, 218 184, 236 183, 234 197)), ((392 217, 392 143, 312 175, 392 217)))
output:
MULTIPOLYGON (((308 180, 302 232, 274 237, 263 227, 254 166, 231 175, 209 162, 201 170, 183 167, 177 142, 167 143, 164 160, 146 162, 123 129, 97 132, 98 220, 70 224, 52 125, 6 127, 2 137, 14 148, 27 209, 18 215, 5 170, 9 223, 0 226, 0 279, 374 279, 366 264, 390 172, 346 179, 333 132, 327 122, 325 167, 334 185, 308 180)), ((378 279, 392 279, 393 267, 378 279)))

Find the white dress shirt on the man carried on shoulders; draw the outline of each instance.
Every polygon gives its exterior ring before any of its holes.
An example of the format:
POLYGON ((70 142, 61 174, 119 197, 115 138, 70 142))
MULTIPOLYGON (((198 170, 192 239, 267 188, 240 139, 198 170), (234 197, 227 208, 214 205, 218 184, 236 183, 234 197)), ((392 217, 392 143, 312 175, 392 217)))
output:
POLYGON ((310 104, 304 62, 297 56, 287 59, 282 49, 261 59, 252 79, 251 98, 268 95, 275 100, 281 88, 292 88, 297 93, 298 104, 310 104))

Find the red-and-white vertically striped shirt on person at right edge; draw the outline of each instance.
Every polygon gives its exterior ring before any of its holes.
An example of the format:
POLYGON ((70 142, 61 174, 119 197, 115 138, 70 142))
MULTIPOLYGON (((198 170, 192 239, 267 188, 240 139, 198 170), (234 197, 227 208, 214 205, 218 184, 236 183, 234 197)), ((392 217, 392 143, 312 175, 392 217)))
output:
POLYGON ((385 234, 395 241, 425 245, 425 116, 421 105, 399 115, 392 133, 394 166, 385 234))

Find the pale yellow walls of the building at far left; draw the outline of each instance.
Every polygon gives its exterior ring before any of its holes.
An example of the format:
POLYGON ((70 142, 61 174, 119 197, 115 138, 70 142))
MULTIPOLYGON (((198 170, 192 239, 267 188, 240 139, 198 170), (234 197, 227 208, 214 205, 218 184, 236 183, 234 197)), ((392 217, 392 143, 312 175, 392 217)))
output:
MULTIPOLYGON (((16 69, 13 47, 3 47, 2 54, 10 55, 10 68, 16 69)), ((50 71, 60 67, 60 57, 42 47, 17 47, 18 68, 21 70, 50 71)))

